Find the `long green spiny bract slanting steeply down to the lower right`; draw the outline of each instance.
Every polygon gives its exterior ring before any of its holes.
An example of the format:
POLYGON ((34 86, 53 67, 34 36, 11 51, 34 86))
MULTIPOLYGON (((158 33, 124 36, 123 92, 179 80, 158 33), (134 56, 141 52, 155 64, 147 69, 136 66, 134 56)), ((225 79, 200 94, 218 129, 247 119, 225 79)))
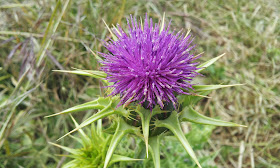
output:
POLYGON ((181 126, 180 122, 178 120, 178 115, 176 111, 173 111, 171 115, 165 119, 165 120, 156 120, 155 125, 157 127, 165 127, 168 128, 181 142, 181 144, 184 146, 185 150, 188 152, 190 157, 194 160, 194 162, 197 164, 199 168, 201 168, 201 165, 198 162, 198 159, 190 146, 188 140, 186 139, 181 126))

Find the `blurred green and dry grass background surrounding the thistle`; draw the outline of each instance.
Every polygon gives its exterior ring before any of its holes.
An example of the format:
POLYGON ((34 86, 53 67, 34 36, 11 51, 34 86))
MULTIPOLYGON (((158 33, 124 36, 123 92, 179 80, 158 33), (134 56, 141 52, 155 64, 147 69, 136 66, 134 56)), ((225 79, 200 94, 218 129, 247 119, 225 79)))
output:
MULTIPOLYGON (((67 115, 44 116, 103 93, 95 79, 52 70, 99 68, 85 46, 106 52, 102 19, 125 26, 129 14, 157 22, 164 12, 172 29, 192 29, 201 62, 226 53, 204 71, 204 83, 245 84, 213 92, 197 110, 248 128, 185 125, 202 165, 280 167, 279 0, 0 0, 0 167, 61 167, 66 152, 48 142, 74 125, 67 115)), ((76 145, 69 137, 57 143, 76 145)), ((162 167, 195 167, 176 141, 161 149, 162 167)))

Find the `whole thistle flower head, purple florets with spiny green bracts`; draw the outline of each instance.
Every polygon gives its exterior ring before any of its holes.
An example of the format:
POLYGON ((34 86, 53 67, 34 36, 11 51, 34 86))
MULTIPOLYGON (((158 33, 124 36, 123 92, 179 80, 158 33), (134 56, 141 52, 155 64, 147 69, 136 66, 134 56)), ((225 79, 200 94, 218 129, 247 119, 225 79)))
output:
MULTIPOLYGON (((168 135, 174 135, 192 160, 201 168, 181 128, 181 122, 244 127, 244 125, 204 116, 194 109, 194 105, 212 90, 238 85, 194 85, 191 83, 194 77, 221 58, 223 54, 198 65, 195 61, 199 56, 194 56, 192 53, 195 46, 192 45, 193 38, 181 32, 169 33, 170 23, 166 28, 164 17, 161 24, 153 24, 146 15, 144 25, 142 25, 142 21, 139 23, 131 16, 127 24, 128 33, 125 33, 119 25, 111 29, 106 24, 113 39, 104 42, 109 52, 99 53, 103 59, 88 48, 100 60, 102 71, 60 70, 60 72, 99 78, 105 85, 112 88, 112 90, 108 89, 110 96, 100 96, 96 100, 47 117, 89 109, 98 110, 81 124, 75 123, 76 128, 61 137, 63 138, 77 130, 84 137, 80 129, 97 121, 101 131, 103 121, 100 119, 111 116, 108 125, 111 130, 109 132, 113 134, 112 139, 110 139, 109 147, 106 146, 107 143, 102 147, 107 150, 102 150, 105 153, 100 155, 104 161, 101 164, 103 168, 107 168, 116 161, 135 160, 114 155, 117 145, 127 134, 132 134, 144 141, 145 147, 141 146, 141 149, 146 150, 146 157, 149 153, 152 155, 156 168, 160 168, 159 143, 164 136, 168 135), (130 106, 131 102, 142 104, 142 106, 135 106, 135 103, 130 106), (166 110, 167 107, 172 107, 172 104, 174 108, 166 110), (182 108, 176 108, 177 104, 182 108)), ((95 142, 93 144, 96 145, 95 142)), ((69 148, 62 148, 69 150, 69 148)), ((70 151, 73 152, 73 150, 70 151)), ((81 156, 79 152, 73 152, 73 155, 76 158, 86 157, 81 156)))

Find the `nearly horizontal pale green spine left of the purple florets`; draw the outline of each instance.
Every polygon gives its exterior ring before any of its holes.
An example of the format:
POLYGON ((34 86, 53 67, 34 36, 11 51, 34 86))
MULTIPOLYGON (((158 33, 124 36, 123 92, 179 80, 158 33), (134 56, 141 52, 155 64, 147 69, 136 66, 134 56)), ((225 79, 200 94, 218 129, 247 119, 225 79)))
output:
POLYGON ((90 76, 94 78, 106 78, 107 74, 103 71, 92 71, 92 70, 81 70, 81 69, 76 69, 76 70, 53 70, 54 72, 63 72, 63 73, 72 73, 72 74, 77 74, 77 75, 84 75, 84 76, 90 76))

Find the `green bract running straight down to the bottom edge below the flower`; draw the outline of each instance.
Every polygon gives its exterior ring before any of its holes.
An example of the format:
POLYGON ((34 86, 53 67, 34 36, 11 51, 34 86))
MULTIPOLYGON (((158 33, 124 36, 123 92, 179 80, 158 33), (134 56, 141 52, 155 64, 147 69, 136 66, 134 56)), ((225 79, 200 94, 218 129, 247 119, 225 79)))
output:
POLYGON ((159 139, 161 135, 149 138, 149 151, 153 157, 155 168, 160 168, 159 139))

